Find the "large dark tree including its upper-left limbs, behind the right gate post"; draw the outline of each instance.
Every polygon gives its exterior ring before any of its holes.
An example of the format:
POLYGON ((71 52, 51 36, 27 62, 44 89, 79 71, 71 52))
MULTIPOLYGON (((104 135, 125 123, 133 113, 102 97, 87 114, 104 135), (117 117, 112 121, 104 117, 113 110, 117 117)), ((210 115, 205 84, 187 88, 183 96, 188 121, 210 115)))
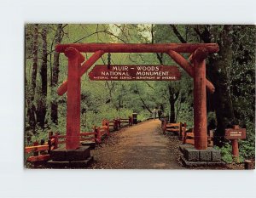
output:
POLYGON ((212 96, 213 108, 216 112, 216 143, 222 144, 224 129, 235 124, 234 110, 230 93, 230 69, 233 57, 233 25, 203 25, 194 28, 203 42, 217 42, 219 52, 208 59, 207 76, 216 90, 212 96))

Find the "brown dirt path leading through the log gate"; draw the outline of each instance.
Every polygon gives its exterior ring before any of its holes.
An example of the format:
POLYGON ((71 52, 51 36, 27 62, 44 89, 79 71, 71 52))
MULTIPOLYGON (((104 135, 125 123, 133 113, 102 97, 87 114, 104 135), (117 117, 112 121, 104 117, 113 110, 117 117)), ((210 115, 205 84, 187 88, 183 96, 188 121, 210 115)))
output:
POLYGON ((160 134, 160 121, 148 121, 111 133, 91 153, 95 161, 89 168, 177 169, 180 142, 177 136, 160 134))

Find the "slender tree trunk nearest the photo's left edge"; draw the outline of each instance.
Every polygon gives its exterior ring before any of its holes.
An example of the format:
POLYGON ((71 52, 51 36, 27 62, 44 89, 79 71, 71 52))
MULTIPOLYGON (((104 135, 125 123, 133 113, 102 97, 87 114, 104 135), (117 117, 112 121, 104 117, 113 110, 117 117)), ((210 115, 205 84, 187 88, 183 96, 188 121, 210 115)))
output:
POLYGON ((32 46, 32 80, 30 97, 27 100, 27 117, 30 127, 35 128, 37 121, 35 116, 36 107, 33 105, 35 98, 35 91, 37 87, 37 74, 38 74, 38 24, 34 25, 34 35, 33 35, 33 46, 32 46))

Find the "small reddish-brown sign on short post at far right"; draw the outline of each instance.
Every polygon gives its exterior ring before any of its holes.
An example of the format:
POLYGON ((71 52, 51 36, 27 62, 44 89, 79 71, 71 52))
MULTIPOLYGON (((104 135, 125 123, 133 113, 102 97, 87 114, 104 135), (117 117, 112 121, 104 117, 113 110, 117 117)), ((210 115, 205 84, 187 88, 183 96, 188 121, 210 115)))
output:
POLYGON ((234 125, 233 128, 227 128, 225 130, 225 138, 230 139, 232 143, 232 155, 239 162, 239 146, 238 139, 246 139, 246 129, 240 128, 238 125, 234 125))

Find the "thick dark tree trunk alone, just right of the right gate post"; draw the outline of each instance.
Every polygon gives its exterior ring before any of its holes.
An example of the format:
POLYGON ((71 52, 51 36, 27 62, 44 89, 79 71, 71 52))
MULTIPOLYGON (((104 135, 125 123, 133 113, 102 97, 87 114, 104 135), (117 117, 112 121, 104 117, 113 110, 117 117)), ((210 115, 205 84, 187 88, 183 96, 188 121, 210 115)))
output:
MULTIPOLYGON (((232 64, 232 31, 233 25, 224 25, 219 43, 219 58, 210 59, 212 65, 212 82, 216 91, 213 94, 213 104, 217 118, 216 143, 224 140, 224 130, 235 122, 234 110, 230 93, 230 66, 232 64), (221 137, 220 139, 218 137, 221 137)), ((221 145, 221 143, 219 144, 221 145)))

